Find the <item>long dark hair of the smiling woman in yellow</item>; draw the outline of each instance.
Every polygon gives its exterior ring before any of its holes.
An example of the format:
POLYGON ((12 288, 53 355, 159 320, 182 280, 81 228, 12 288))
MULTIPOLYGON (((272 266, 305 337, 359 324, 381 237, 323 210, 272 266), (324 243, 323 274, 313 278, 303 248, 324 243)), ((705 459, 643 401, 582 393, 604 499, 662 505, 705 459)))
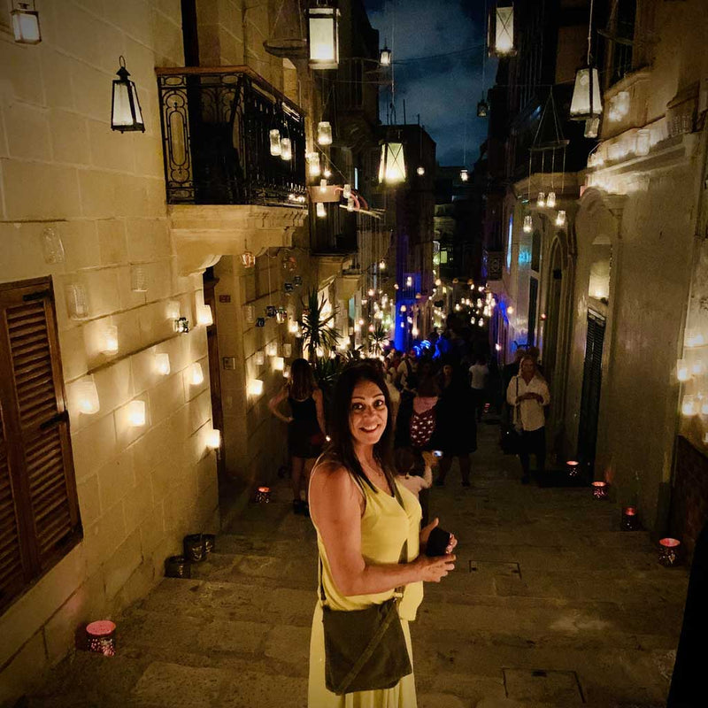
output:
POLYGON ((335 385, 335 393, 332 397, 332 412, 329 418, 329 433, 332 442, 327 448, 326 458, 345 467, 359 484, 366 483, 374 491, 378 488, 369 481, 364 473, 357 453, 354 451, 354 444, 351 440, 350 430, 350 409, 351 396, 357 385, 362 381, 371 381, 381 391, 386 408, 388 409, 386 428, 379 442, 373 446, 373 458, 381 465, 383 473, 389 481, 389 486, 394 489, 395 465, 393 460, 393 425, 391 422, 391 400, 389 389, 383 376, 373 364, 357 362, 347 366, 342 371, 335 385))

